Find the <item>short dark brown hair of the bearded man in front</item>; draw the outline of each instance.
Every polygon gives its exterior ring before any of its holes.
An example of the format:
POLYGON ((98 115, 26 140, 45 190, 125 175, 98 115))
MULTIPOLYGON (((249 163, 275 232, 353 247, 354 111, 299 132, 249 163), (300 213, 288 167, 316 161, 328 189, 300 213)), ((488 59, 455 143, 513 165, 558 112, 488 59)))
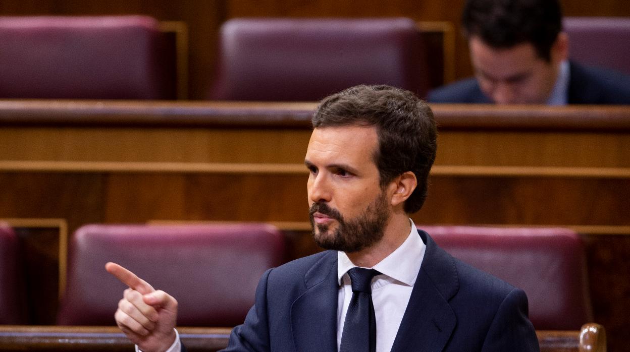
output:
POLYGON ((428 174, 435 161, 437 130, 433 112, 415 94, 390 86, 355 86, 324 98, 312 118, 314 128, 375 126, 379 149, 374 162, 381 187, 411 171, 418 186, 404 211, 420 210, 427 198, 428 174))

